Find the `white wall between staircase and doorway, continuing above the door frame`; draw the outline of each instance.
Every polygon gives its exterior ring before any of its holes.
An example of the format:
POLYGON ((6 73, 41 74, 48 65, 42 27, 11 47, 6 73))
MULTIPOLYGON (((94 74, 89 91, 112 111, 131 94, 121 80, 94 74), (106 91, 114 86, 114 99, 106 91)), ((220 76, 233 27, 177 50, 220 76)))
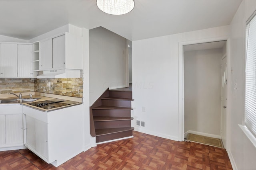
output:
POLYGON ((179 42, 228 37, 229 26, 132 42, 132 121, 136 131, 179 139, 179 42), (145 107, 145 112, 142 112, 145 107), (145 121, 145 127, 136 126, 145 121))

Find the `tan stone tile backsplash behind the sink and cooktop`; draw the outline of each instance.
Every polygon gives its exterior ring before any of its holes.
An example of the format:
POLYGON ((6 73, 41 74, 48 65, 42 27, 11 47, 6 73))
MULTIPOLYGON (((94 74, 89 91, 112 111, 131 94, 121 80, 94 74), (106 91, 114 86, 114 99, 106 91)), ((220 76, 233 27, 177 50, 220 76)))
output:
POLYGON ((83 78, 0 78, 0 94, 42 92, 83 97, 83 78))

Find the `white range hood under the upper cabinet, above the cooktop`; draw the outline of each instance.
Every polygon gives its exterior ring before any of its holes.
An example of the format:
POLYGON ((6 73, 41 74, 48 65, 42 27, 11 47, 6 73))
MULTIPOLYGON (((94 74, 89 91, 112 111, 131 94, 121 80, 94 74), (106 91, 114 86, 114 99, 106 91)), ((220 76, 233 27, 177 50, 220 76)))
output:
POLYGON ((80 78, 80 70, 44 70, 37 78, 80 78))

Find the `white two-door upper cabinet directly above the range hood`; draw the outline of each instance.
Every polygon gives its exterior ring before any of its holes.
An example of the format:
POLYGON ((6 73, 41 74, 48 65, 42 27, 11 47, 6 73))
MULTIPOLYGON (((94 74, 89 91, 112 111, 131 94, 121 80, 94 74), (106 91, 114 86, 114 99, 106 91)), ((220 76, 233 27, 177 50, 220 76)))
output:
POLYGON ((82 37, 65 33, 40 42, 40 70, 82 70, 82 37))

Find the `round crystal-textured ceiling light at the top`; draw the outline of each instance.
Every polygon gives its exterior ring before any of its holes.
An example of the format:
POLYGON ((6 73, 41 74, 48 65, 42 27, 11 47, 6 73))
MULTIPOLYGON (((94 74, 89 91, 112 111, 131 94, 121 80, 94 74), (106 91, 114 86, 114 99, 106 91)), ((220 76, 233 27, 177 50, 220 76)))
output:
POLYGON ((97 0, 98 8, 107 14, 122 15, 134 8, 134 0, 97 0))

